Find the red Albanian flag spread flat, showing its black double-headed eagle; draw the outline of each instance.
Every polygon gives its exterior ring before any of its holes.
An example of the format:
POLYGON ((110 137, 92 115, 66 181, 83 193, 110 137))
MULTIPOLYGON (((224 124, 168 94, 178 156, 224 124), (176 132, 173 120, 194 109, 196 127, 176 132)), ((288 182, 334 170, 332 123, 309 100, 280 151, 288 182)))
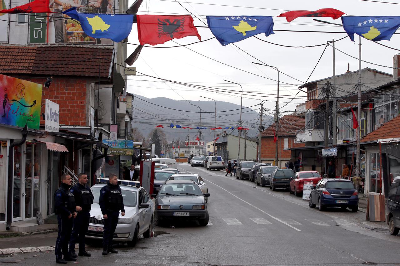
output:
POLYGON ((163 44, 172 39, 197 36, 201 40, 192 16, 137 15, 141 45, 163 44))

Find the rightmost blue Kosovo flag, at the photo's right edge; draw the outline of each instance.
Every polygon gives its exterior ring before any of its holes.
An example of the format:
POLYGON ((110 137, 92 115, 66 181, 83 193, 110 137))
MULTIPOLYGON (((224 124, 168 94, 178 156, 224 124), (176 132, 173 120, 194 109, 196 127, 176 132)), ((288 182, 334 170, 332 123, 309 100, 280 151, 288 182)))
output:
POLYGON ((368 40, 390 40, 400 26, 400 16, 348 16, 342 17, 344 31, 354 42, 354 34, 368 40))

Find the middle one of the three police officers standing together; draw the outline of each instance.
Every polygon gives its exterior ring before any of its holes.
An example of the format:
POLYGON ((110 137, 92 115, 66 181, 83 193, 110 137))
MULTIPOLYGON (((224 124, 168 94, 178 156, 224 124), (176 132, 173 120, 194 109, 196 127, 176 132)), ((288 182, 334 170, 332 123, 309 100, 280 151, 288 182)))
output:
POLYGON ((75 196, 75 209, 78 212, 74 220, 74 227, 70 239, 70 256, 74 258, 78 257, 78 255, 85 257, 90 257, 91 255, 85 250, 85 236, 86 232, 88 232, 90 209, 94 197, 92 191, 86 186, 87 183, 88 175, 80 173, 78 175, 78 184, 71 189, 72 194, 75 196), (75 253, 76 242, 79 244, 78 255, 75 253))

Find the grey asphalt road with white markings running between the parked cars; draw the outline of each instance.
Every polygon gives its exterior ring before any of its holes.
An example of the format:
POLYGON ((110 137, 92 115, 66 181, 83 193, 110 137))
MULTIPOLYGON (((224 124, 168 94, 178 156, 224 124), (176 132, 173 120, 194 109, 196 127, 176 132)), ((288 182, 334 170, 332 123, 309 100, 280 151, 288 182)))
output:
MULTIPOLYGON (((81 265, 400 265, 400 236, 368 228, 365 214, 340 208, 319 212, 287 191, 225 177, 222 171, 179 164, 198 173, 208 186, 208 226, 154 227, 157 236, 141 238, 136 248, 116 246, 118 254, 87 249, 81 265), (366 228, 367 227, 367 228, 366 228)), ((386 227, 383 222, 382 228, 386 227)), ((49 238, 49 242, 55 242, 49 238)), ((52 265, 53 252, 16 254, 4 261, 52 265), (16 261, 18 260, 18 261, 16 261)), ((0 262, 2 262, 0 260, 0 262)), ((69 262, 72 264, 72 262, 69 262)))

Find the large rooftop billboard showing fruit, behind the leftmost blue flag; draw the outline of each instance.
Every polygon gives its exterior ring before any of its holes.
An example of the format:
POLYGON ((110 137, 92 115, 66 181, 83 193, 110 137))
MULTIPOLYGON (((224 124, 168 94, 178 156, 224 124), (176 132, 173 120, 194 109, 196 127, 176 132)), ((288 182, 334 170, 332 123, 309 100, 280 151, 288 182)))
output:
MULTIPOLYGON (((114 0, 54 0, 50 8, 62 12, 76 6, 78 12, 114 14, 114 0)), ((112 44, 109 39, 87 36, 78 21, 61 13, 35 14, 30 16, 29 43, 43 44, 112 44), (50 17, 49 17, 50 16, 50 17)))

